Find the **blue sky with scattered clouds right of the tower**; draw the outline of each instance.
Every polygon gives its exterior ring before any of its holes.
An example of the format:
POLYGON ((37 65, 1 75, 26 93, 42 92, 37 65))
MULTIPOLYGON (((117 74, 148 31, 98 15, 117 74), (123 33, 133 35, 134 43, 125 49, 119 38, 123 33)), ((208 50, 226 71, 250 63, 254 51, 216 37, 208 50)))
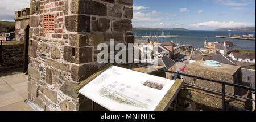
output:
POLYGON ((133 27, 255 27, 255 0, 134 0, 133 27))

